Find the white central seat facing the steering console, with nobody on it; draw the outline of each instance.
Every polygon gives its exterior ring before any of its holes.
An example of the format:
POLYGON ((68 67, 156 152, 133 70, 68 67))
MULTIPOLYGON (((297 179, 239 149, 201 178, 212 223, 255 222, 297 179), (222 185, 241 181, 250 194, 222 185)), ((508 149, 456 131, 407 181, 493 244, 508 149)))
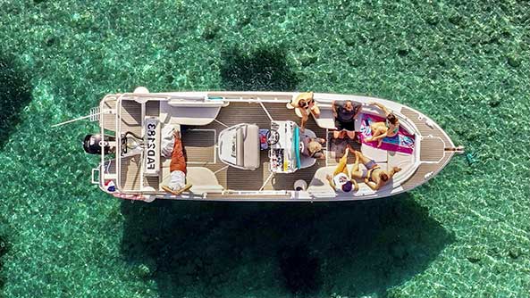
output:
POLYGON ((218 138, 219 159, 241 170, 259 168, 260 142, 256 124, 242 123, 226 128, 218 138))

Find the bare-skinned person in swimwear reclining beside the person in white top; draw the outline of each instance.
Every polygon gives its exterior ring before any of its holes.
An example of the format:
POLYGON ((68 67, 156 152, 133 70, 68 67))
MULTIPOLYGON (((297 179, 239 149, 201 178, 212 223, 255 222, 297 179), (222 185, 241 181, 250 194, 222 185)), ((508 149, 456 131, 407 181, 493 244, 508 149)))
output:
POLYGON ((378 190, 379 188, 386 185, 386 183, 394 176, 395 173, 399 172, 401 168, 393 167, 392 170, 383 170, 374 160, 367 158, 363 153, 355 151, 351 148, 349 150, 355 154, 355 163, 353 169, 351 170, 351 177, 364 179, 367 186, 373 190, 378 190), (359 168, 359 161, 361 161, 366 170, 361 170, 359 168))

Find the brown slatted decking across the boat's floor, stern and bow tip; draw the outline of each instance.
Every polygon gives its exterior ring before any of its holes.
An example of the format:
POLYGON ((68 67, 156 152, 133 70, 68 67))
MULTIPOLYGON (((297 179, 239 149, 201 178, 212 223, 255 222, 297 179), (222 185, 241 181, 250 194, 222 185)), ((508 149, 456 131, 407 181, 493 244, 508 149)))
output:
MULTIPOLYGON (((113 108, 115 101, 108 101, 105 104, 107 108, 113 108)), ((264 104, 274 120, 293 120, 299 123, 299 117, 292 110, 286 109, 285 103, 264 104)), ((425 124, 425 120, 428 120, 428 118, 414 110, 404 107, 400 112, 416 125, 423 136, 420 159, 421 161, 427 161, 426 163, 421 163, 415 173, 401 185, 406 191, 423 184, 428 178, 433 177, 438 171, 442 170, 445 164, 450 161, 453 153, 444 152, 444 147, 452 146, 452 142, 441 128, 436 125, 431 127, 425 124)), ((159 113, 160 105, 158 102, 147 102, 146 115, 158 116, 159 113)), ((122 132, 131 131, 140 135, 141 105, 132 101, 123 101, 121 114, 122 132)), ((104 116, 104 127, 114 130, 115 116, 106 117, 104 116)), ((216 137, 226 126, 231 127, 240 123, 256 123, 259 128, 270 128, 271 121, 261 105, 259 103, 232 102, 221 109, 216 120, 206 126, 182 127, 182 143, 187 154, 188 166, 206 167, 212 170, 219 184, 226 190, 290 190, 298 179, 304 179, 309 183, 315 176, 316 170, 337 163, 346 145, 345 143, 339 143, 338 145, 332 143, 330 145, 330 142, 328 142, 327 158, 325 160, 317 160, 314 166, 297 170, 294 173, 275 174, 269 179, 270 171, 267 151, 261 152, 261 164, 257 170, 239 170, 228 167, 215 156, 216 137)), ((332 131, 318 127, 312 117, 309 117, 306 128, 313 130, 317 137, 325 138, 326 134, 328 134, 328 140, 332 141, 332 131)), ((358 149, 357 144, 350 143, 350 145, 358 149)), ((140 162, 139 156, 122 160, 122 190, 139 190, 142 185, 152 186, 160 190, 162 178, 146 177, 144 181, 139 181, 140 162)))

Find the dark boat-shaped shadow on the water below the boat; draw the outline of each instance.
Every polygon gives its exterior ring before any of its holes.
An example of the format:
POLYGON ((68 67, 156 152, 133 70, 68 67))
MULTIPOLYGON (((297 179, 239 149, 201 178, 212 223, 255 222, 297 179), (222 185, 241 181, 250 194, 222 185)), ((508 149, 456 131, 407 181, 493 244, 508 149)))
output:
POLYGON ((349 203, 122 203, 122 253, 162 297, 385 296, 454 241, 408 195, 349 203))

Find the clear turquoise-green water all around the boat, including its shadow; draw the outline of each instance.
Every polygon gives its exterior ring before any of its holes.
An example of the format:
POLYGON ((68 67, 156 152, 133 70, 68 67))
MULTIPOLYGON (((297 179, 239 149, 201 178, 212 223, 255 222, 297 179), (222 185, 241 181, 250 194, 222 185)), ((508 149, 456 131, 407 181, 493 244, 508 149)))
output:
POLYGON ((530 297, 527 1, 0 0, 0 297, 530 297), (130 203, 89 183, 107 93, 314 90, 457 156, 360 203, 130 203))

